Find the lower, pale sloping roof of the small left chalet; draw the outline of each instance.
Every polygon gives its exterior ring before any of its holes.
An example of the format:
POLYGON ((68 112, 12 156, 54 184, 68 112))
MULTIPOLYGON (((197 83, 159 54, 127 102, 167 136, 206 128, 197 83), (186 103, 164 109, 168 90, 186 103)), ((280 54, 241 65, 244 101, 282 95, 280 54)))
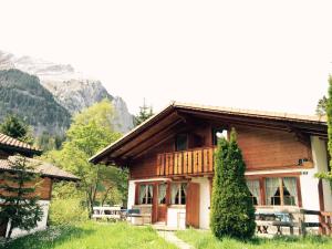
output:
MULTIPOLYGON (((15 156, 10 156, 8 159, 0 159, 0 172, 12 170, 11 162, 15 160, 15 156)), ((80 180, 79 177, 74 176, 71 173, 62 170, 61 168, 55 167, 54 165, 38 159, 27 158, 27 163, 35 166, 35 173, 41 174, 42 176, 48 176, 56 179, 64 180, 80 180)))

